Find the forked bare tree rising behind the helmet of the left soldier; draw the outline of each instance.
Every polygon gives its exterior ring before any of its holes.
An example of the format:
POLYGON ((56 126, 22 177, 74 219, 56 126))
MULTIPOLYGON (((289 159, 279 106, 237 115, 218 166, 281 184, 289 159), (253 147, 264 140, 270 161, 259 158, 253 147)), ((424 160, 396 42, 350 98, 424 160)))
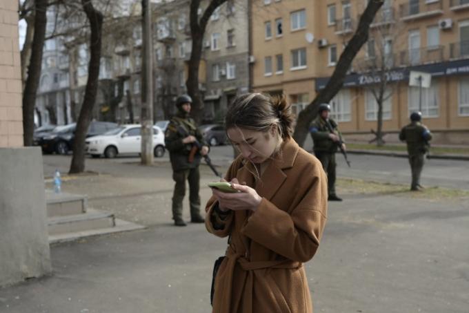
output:
POLYGON ((210 0, 206 10, 199 19, 201 0, 190 1, 190 35, 192 37, 192 52, 188 62, 188 79, 186 87, 192 97, 192 115, 197 122, 203 117, 203 99, 199 90, 199 64, 202 56, 203 35, 205 34, 208 19, 219 6, 228 0, 210 0))

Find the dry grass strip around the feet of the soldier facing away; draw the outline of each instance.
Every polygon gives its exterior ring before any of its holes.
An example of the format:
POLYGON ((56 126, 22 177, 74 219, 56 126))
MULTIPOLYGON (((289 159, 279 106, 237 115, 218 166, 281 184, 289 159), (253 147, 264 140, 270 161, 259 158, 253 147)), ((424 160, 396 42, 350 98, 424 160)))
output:
POLYGON ((428 187, 423 191, 410 191, 408 184, 390 184, 366 180, 340 178, 337 180, 340 193, 395 195, 429 201, 461 201, 469 199, 469 191, 428 187))

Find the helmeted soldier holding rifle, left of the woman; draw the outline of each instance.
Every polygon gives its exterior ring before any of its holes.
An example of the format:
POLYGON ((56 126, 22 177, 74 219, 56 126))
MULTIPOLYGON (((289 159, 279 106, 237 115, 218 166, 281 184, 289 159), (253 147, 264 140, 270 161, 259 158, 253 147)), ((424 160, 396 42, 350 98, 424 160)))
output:
POLYGON ((166 149, 170 151, 174 193, 172 195, 172 219, 176 226, 186 226, 182 218, 182 202, 186 194, 186 180, 189 182, 190 221, 204 222, 200 215, 199 164, 201 155, 208 153, 208 144, 194 120, 189 117, 192 99, 181 95, 176 100, 177 114, 172 117, 165 133, 166 149), (195 142, 199 142, 197 151, 195 142))

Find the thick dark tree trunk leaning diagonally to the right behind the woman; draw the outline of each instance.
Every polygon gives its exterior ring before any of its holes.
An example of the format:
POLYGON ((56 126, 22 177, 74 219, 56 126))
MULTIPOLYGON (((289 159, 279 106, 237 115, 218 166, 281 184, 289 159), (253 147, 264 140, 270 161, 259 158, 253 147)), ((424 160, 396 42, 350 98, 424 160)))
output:
POLYGON ((368 32, 370 24, 379 8, 383 5, 384 0, 370 0, 366 6, 363 15, 361 15, 360 22, 357 31, 353 35, 352 39, 348 41, 348 44, 343 50, 337 65, 335 66, 334 73, 329 79, 326 88, 319 92, 314 100, 299 113, 297 120, 297 126, 293 137, 300 146, 303 146, 306 136, 308 135, 308 126, 311 121, 315 119, 317 115, 317 107, 321 103, 328 103, 330 100, 340 91, 343 86, 343 80, 346 77, 348 68, 352 64, 353 59, 359 53, 359 50, 368 40, 368 32))

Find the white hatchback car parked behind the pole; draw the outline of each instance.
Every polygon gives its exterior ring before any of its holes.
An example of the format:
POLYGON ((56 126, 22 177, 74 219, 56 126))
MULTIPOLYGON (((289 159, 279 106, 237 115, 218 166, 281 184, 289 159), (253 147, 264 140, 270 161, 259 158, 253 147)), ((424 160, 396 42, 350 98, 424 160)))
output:
MULTIPOLYGON (((140 129, 140 124, 122 125, 103 135, 86 138, 85 151, 93 158, 138 154, 141 152, 140 129)), ((165 153, 164 134, 158 126, 153 126, 153 153, 156 158, 161 158, 165 153)))

